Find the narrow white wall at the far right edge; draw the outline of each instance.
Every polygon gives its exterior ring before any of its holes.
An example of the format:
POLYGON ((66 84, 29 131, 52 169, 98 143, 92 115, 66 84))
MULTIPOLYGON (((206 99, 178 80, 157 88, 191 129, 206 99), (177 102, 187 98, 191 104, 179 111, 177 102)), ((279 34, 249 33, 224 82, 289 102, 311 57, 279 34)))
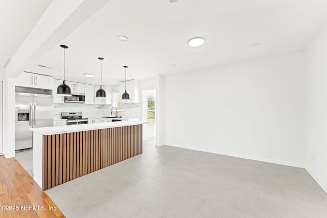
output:
POLYGON ((306 168, 327 191, 327 25, 306 50, 306 168))

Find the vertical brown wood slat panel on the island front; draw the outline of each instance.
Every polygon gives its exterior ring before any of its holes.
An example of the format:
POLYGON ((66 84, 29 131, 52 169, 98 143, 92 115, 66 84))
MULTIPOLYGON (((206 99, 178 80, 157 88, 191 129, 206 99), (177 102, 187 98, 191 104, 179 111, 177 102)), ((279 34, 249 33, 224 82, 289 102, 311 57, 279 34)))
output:
POLYGON ((43 190, 142 154, 142 125, 43 135, 43 190))

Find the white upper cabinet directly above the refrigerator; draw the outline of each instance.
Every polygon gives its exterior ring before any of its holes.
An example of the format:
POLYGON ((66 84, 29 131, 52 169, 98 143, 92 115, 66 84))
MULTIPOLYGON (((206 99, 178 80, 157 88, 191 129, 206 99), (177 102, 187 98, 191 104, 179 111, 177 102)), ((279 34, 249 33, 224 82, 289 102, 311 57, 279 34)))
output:
POLYGON ((30 72, 23 72, 15 79, 15 85, 52 90, 53 78, 39 74, 32 74, 30 72))

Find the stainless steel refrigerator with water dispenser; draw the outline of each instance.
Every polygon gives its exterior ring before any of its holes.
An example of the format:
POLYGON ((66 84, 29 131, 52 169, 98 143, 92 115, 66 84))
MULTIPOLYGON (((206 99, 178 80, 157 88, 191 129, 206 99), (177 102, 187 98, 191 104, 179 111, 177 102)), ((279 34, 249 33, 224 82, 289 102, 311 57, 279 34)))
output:
POLYGON ((53 95, 16 92, 15 150, 32 148, 30 128, 53 126, 53 95))

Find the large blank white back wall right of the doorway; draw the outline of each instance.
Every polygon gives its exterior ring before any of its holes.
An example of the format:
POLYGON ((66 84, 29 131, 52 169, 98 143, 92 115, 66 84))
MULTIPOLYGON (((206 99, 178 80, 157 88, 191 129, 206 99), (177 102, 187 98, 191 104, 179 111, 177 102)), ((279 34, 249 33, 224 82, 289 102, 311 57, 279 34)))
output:
POLYGON ((165 77, 165 144, 304 166, 303 53, 165 77))

